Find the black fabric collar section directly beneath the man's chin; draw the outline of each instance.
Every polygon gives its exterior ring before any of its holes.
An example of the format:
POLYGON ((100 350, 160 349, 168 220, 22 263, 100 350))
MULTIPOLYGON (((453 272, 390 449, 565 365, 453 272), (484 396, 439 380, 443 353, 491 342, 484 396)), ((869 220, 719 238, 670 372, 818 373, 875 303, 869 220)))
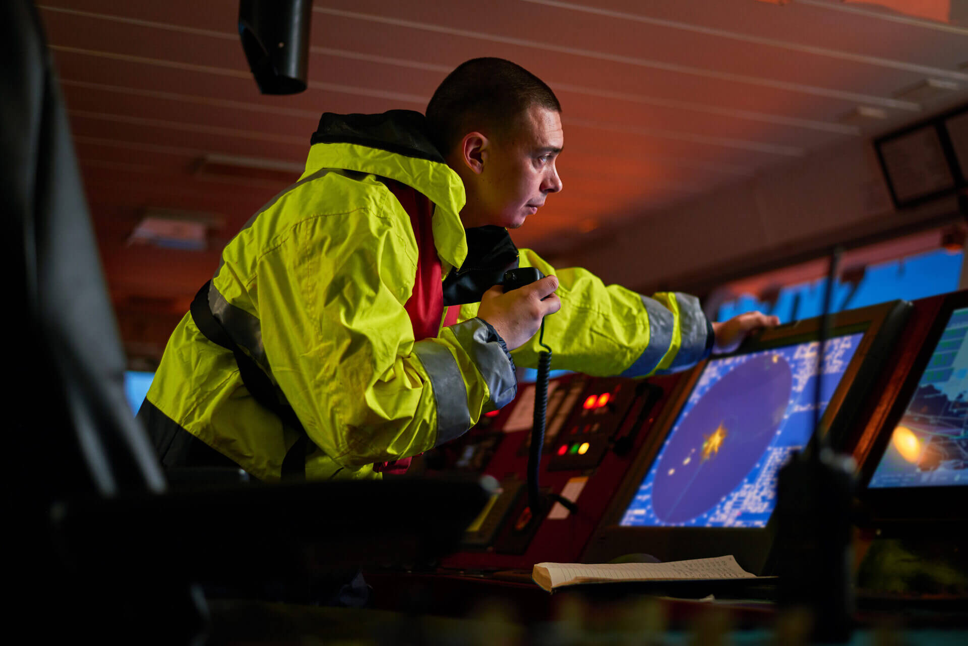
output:
POLYGON ((503 227, 475 227, 465 231, 468 257, 460 269, 444 279, 444 305, 478 302, 481 294, 503 280, 505 271, 518 266, 518 248, 503 227))

